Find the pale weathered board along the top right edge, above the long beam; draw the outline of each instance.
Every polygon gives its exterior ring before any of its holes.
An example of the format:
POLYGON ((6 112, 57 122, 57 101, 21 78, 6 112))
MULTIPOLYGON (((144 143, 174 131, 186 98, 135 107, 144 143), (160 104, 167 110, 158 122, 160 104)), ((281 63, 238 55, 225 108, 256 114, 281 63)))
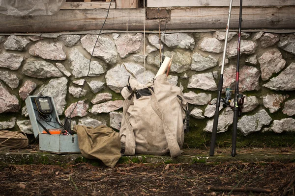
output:
MULTIPOLYGON (((234 0, 233 6, 240 1, 234 0)), ((147 0, 147 7, 198 7, 229 6, 230 0, 147 0)), ((243 0, 243 6, 286 6, 295 5, 295 0, 243 0)))

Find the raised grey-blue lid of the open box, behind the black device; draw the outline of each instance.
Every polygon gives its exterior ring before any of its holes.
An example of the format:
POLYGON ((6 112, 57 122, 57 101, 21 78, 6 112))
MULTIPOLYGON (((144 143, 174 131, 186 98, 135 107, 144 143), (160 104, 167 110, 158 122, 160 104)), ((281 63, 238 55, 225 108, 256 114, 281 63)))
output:
POLYGON ((52 120, 50 122, 40 120, 40 118, 38 117, 37 105, 35 103, 35 98, 37 97, 40 96, 29 96, 25 100, 29 113, 29 120, 31 122, 35 138, 39 138, 39 134, 41 134, 44 130, 44 128, 37 122, 37 120, 47 129, 56 129, 60 126, 57 123, 57 121, 60 123, 59 115, 52 97, 49 97, 53 105, 53 112, 50 114, 52 120))

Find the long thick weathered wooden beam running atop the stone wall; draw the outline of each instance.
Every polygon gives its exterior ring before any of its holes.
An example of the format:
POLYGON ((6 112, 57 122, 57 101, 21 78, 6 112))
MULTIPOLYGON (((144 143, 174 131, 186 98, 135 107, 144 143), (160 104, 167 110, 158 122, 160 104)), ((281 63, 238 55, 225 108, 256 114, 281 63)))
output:
MULTIPOLYGON (((231 29, 238 27, 238 7, 233 7, 231 29)), ((88 31, 101 28, 106 9, 59 10, 51 16, 7 16, 0 14, 0 33, 88 31)), ((227 7, 199 7, 172 9, 167 30, 225 29, 227 7)), ((111 9, 104 30, 141 31, 146 20, 144 9, 111 9)), ((158 30, 157 19, 146 20, 146 30, 158 30)), ((164 25, 164 22, 163 22, 164 25)), ((290 7, 244 7, 242 29, 295 29, 295 6, 290 7)))

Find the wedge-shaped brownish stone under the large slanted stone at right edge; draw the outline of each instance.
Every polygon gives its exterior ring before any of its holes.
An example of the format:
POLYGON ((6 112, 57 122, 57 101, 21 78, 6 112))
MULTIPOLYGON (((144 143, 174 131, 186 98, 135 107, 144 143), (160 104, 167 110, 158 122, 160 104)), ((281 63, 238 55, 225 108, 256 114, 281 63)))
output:
POLYGON ((274 113, 281 108, 283 102, 289 97, 289 95, 268 93, 263 96, 263 105, 269 109, 270 113, 274 113))

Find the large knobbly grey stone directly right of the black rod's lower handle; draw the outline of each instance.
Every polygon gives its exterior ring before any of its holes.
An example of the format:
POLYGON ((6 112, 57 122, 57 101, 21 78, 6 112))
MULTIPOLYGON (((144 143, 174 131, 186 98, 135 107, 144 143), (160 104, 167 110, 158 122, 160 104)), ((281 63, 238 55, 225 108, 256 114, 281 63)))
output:
POLYGON ((260 110, 252 116, 243 116, 237 122, 237 129, 242 132, 244 136, 250 133, 260 131, 263 125, 267 125, 272 121, 271 117, 265 110, 260 110))

